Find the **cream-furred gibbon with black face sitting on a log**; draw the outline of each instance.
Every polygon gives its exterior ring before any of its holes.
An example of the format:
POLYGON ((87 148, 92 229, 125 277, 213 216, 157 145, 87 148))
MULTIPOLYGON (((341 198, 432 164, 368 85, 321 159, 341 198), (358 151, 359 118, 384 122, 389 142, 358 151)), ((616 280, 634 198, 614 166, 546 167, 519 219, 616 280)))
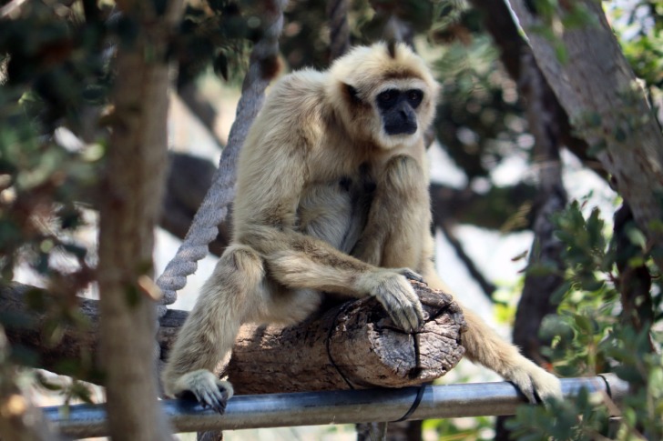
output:
MULTIPOLYGON (((168 357, 168 396, 222 413, 232 387, 212 371, 240 326, 299 322, 321 293, 375 296, 407 332, 423 323, 408 278, 449 292, 433 265, 423 143, 438 89, 409 47, 384 43, 273 86, 241 150, 232 242, 168 357)), ((471 360, 531 402, 561 397, 556 376, 465 308, 464 317, 471 360)))

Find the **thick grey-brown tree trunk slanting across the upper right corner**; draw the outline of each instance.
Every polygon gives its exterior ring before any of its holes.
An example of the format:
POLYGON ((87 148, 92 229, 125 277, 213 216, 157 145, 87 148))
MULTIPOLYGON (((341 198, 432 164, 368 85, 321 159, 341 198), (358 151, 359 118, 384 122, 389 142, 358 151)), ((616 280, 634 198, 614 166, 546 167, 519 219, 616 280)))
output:
MULTIPOLYGON (((561 63, 550 40, 537 27, 545 25, 525 5, 510 0, 518 21, 529 38, 536 63, 546 75, 557 99, 577 132, 614 177, 617 190, 633 211, 651 246, 663 247, 663 135, 645 95, 637 85, 627 59, 607 23, 601 3, 595 0, 560 3, 556 14, 564 18, 566 7, 583 7, 591 23, 557 33, 566 48, 561 63)), ((657 264, 663 267, 661 258, 657 264)))

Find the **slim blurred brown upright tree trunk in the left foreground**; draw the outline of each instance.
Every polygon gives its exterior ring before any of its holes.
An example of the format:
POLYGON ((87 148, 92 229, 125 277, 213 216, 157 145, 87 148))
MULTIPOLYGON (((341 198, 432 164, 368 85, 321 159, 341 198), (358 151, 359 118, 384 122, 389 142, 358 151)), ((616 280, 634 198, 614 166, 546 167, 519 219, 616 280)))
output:
POLYGON ((170 439, 158 406, 153 232, 167 167, 168 61, 181 2, 117 2, 138 34, 117 49, 117 78, 100 207, 100 357, 115 440, 170 439), (154 10, 158 5, 163 11, 154 10))

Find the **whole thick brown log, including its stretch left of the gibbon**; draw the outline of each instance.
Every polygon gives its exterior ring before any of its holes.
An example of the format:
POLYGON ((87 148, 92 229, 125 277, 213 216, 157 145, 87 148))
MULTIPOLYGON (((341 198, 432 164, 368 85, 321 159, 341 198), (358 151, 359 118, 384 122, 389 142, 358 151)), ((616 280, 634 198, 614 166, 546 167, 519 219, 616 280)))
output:
MULTIPOLYGON (((242 326, 227 368, 238 394, 265 394, 352 387, 419 385, 444 376, 464 354, 464 318, 451 296, 413 282, 428 314, 415 335, 393 326, 372 298, 351 301, 298 326, 242 326)), ((13 345, 35 350, 39 366, 58 372, 63 358, 97 350, 97 302, 81 299, 89 318, 85 331, 67 328, 59 345, 45 347, 41 328, 46 313, 26 307, 29 286, 0 288, 0 315, 12 316, 7 337, 13 345), (25 326, 29 324, 29 326, 25 326)), ((188 313, 168 310, 160 319, 158 342, 163 356, 188 313)), ((61 373, 61 372, 58 372, 61 373)), ((86 378, 99 382, 98 377, 86 378)))

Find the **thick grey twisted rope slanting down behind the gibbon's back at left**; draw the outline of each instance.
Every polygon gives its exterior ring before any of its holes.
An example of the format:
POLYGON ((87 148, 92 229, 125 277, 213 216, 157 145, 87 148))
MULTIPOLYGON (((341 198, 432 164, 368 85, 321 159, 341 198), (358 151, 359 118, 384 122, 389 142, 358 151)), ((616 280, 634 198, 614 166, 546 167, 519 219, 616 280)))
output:
POLYGON ((266 0, 262 3, 260 19, 263 35, 253 46, 250 55, 249 72, 244 78, 235 122, 230 129, 228 145, 223 149, 219 169, 193 218, 184 242, 157 280, 157 285, 163 292, 162 305, 158 306, 159 317, 166 314, 166 305, 177 300, 177 291, 186 286, 187 277, 196 272, 198 261, 207 256, 209 243, 217 237, 218 226, 228 215, 228 206, 235 196, 236 165, 240 147, 244 144, 250 125, 264 102, 265 89, 277 71, 283 9, 288 1, 266 0))

